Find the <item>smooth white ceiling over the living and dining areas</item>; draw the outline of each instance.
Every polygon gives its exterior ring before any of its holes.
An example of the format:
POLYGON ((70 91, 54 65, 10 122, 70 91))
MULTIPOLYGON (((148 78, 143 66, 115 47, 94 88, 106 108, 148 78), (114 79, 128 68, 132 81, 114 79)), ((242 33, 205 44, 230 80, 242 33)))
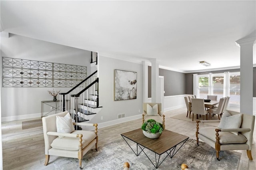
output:
POLYGON ((1 31, 183 72, 233 67, 235 41, 256 36, 256 1, 1 0, 1 31))

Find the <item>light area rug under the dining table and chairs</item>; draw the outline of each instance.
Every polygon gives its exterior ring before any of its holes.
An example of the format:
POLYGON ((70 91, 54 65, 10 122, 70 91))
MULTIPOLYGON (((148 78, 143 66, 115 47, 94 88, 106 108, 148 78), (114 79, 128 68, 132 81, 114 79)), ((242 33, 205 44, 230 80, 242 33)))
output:
MULTIPOLYGON (((183 120, 183 121, 190 121, 192 122, 192 114, 191 114, 191 117, 189 119, 189 115, 188 117, 187 116, 187 113, 182 113, 182 114, 179 114, 179 115, 175 115, 175 116, 171 116, 171 118, 174 118, 174 119, 180 119, 180 120, 183 120)), ((203 116, 199 117, 198 116, 198 119, 196 119, 196 115, 194 115, 194 122, 196 122, 197 120, 203 120, 203 116)), ((206 116, 204 116, 204 120, 206 120, 206 116)), ((214 117, 210 118, 209 120, 219 120, 218 119, 218 115, 214 115, 214 117)), ((212 126, 218 126, 219 123, 204 123, 206 125, 212 125, 212 126)))

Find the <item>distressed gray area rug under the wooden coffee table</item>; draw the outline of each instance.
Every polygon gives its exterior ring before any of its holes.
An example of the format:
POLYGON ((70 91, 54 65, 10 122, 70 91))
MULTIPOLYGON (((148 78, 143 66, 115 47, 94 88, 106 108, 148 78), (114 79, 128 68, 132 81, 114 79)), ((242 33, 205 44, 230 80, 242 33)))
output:
MULTIPOLYGON (((132 148, 136 149, 136 144, 130 142, 133 144, 132 148)), ((149 154, 149 157, 154 157, 152 151, 146 150, 145 152, 149 154)), ((236 170, 240 157, 241 153, 239 152, 221 151, 220 161, 218 161, 214 148, 204 142, 200 142, 200 145, 197 146, 196 140, 188 139, 174 157, 172 159, 167 157, 158 169, 180 170, 181 164, 185 163, 190 170, 236 170)), ((124 139, 101 146, 98 148, 98 152, 95 149, 87 152, 82 160, 82 168, 84 170, 122 170, 124 162, 130 163, 130 170, 156 169, 143 152, 136 156, 124 139)), ((76 158, 50 156, 47 166, 44 166, 44 160, 41 160, 41 165, 26 169, 74 170, 79 169, 79 166, 76 158)))

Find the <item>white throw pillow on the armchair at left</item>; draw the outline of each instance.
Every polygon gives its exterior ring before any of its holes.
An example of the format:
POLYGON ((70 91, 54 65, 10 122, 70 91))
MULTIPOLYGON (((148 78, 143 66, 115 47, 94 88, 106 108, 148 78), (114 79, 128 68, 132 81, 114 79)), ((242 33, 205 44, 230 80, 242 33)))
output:
MULTIPOLYGON (((60 133, 71 133, 75 130, 70 113, 67 113, 64 117, 56 116, 56 128, 57 132, 60 133)), ((59 138, 63 137, 59 136, 59 138)))

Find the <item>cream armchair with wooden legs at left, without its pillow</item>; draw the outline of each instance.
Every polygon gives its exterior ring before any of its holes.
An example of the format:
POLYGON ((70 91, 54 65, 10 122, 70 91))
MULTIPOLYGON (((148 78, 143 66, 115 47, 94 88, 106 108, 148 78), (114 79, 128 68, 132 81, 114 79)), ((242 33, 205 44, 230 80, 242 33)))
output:
MULTIPOLYGON (((68 111, 57 113, 42 118, 44 144, 45 144, 45 166, 50 160, 50 155, 69 158, 78 158, 79 167, 82 169, 82 158, 93 146, 98 149, 97 124, 73 123, 79 126, 94 126, 95 132, 86 130, 74 130, 71 133, 57 132, 56 116, 64 117, 68 111), (62 138, 58 137, 61 136, 62 138)), ((71 125, 72 126, 72 125, 71 125)))

